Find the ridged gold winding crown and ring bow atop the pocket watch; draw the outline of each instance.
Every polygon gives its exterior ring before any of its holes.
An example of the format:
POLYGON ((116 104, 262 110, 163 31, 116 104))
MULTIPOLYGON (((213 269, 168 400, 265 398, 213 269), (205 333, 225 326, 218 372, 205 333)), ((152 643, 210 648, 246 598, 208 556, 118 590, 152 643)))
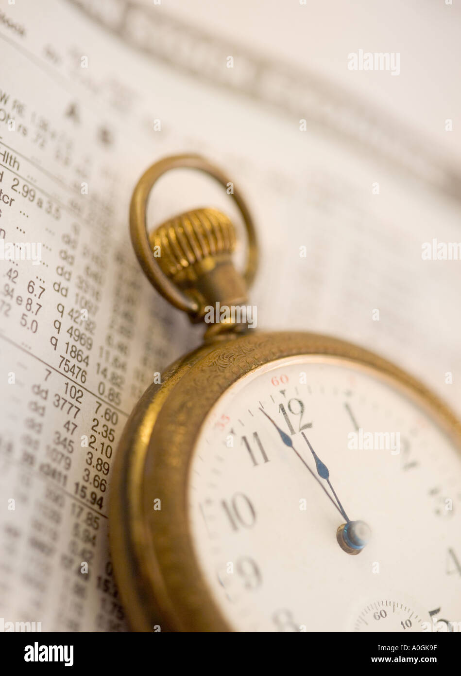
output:
MULTIPOLYGON (((148 281, 178 310, 187 312, 192 322, 215 323, 210 306, 215 305, 215 318, 227 331, 246 330, 233 308, 220 312, 219 305, 238 306, 246 303, 247 289, 252 284, 258 264, 258 246, 254 224, 246 202, 234 183, 221 169, 200 155, 171 155, 150 166, 138 180, 130 202, 130 236, 134 253, 148 281), (246 258, 242 270, 232 261, 236 233, 232 222, 217 209, 194 209, 170 218, 149 235, 147 224, 148 197, 157 180, 172 169, 195 169, 217 180, 225 189, 233 186, 232 203, 242 219, 246 239, 246 258), (232 318, 229 320, 231 310, 232 318)), ((207 329, 209 333, 209 329, 207 329)))

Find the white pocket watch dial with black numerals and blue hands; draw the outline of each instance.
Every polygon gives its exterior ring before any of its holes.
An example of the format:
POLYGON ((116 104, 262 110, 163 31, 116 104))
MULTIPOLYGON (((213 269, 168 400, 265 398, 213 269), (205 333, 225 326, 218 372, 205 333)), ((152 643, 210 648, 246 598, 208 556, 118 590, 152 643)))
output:
POLYGON ((460 451, 408 391, 302 356, 213 407, 188 518, 234 631, 459 631, 460 498, 460 451))

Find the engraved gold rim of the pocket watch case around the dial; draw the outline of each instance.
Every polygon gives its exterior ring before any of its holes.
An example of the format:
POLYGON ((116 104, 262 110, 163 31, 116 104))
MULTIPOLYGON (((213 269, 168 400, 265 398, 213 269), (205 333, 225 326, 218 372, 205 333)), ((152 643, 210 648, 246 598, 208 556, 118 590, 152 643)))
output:
POLYGON ((135 631, 232 631, 215 605, 188 519, 192 452, 219 397, 257 368, 296 356, 337 358, 403 389, 461 449, 461 423, 423 383, 367 349, 313 333, 248 333, 184 357, 138 402, 121 437, 111 484, 115 577, 135 631), (154 510, 153 501, 161 500, 154 510))

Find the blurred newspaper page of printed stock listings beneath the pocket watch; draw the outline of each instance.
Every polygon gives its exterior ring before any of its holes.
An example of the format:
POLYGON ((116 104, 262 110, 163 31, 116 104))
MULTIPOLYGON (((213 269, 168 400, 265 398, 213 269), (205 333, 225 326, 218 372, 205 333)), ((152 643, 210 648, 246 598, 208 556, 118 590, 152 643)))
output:
MULTIPOLYGON (((202 333, 148 285, 128 235, 134 185, 164 155, 202 153, 246 196, 259 329, 360 343, 461 413, 461 262, 423 258, 461 241, 459 25, 441 0, 2 2, 0 237, 43 245, 39 266, 0 267, 0 358, 18 385, 0 404, 1 490, 18 496, 5 619, 126 628, 107 547, 112 452, 155 372, 202 333), (388 67, 363 70, 367 53, 388 67), (93 490, 73 450, 101 412, 93 490), (82 560, 97 571, 86 583, 82 560)), ((152 226, 196 206, 238 224, 190 172, 154 193, 152 226)))

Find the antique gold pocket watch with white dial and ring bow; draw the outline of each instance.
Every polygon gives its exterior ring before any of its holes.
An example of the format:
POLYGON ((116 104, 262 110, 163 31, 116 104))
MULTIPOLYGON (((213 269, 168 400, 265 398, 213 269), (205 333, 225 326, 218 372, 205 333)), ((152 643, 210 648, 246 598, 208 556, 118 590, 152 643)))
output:
POLYGON ((151 189, 175 168, 233 185, 204 158, 176 155, 132 196, 144 273, 206 325, 203 344, 148 387, 117 450, 109 530, 132 629, 454 631, 458 419, 362 347, 251 328, 256 235, 235 187, 242 272, 234 225, 215 208, 146 228, 151 189))

